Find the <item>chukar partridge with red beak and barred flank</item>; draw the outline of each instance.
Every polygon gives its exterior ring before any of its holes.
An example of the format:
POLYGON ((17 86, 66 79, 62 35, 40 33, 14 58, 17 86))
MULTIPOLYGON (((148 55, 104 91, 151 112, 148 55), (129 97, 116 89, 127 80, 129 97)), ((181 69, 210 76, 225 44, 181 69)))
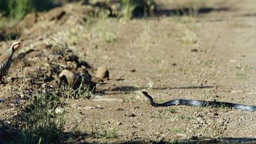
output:
POLYGON ((21 46, 22 43, 14 42, 12 46, 0 56, 0 83, 4 83, 2 77, 9 71, 12 65, 13 53, 21 46))

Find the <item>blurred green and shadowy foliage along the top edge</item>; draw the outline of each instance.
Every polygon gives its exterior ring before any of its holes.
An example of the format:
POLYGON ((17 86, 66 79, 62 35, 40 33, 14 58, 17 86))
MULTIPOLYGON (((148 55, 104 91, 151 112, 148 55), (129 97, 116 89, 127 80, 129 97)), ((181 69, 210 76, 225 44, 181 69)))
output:
POLYGON ((155 9, 154 0, 0 0, 0 17, 21 20, 28 13, 48 11, 56 6, 77 1, 81 1, 83 4, 107 5, 108 7, 112 7, 111 3, 119 3, 120 9, 117 12, 117 17, 128 19, 136 16, 135 13, 142 13, 140 16, 145 16, 148 15, 145 12, 149 13, 150 9, 155 9))

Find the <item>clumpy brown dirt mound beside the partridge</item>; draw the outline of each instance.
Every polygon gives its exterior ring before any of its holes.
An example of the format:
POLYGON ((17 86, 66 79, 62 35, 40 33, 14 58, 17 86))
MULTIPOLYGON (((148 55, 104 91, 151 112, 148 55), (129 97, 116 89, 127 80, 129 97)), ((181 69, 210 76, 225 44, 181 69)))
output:
POLYGON ((0 86, 3 98, 10 101, 13 97, 19 100, 29 99, 46 88, 48 91, 60 91, 63 84, 60 83, 58 75, 63 69, 78 75, 83 74, 84 86, 88 86, 90 91, 95 90, 88 68, 81 64, 67 45, 41 43, 36 46, 25 45, 23 50, 24 52, 14 57, 9 72, 11 75, 5 76, 8 84, 0 86))

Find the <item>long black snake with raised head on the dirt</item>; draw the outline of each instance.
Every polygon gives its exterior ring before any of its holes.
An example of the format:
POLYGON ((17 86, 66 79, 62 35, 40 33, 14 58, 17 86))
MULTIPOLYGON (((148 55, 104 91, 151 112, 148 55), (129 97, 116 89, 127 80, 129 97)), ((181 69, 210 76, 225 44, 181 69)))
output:
POLYGON ((230 102, 217 102, 217 101, 202 101, 202 100, 186 100, 186 99, 177 99, 171 100, 165 103, 155 103, 153 98, 148 95, 146 91, 142 91, 143 95, 148 99, 150 104, 155 107, 159 106, 171 106, 171 105, 188 105, 188 106, 214 106, 214 107, 230 107, 235 109, 240 109, 244 111, 256 111, 256 106, 236 104, 230 102))

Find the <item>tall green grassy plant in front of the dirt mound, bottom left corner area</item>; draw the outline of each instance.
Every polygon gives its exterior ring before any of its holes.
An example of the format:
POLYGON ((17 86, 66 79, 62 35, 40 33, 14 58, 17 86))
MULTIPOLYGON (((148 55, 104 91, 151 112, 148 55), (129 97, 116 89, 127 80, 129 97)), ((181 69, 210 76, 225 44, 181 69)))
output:
POLYGON ((53 94, 37 95, 30 99, 27 107, 31 112, 23 113, 17 123, 23 123, 24 129, 13 143, 38 144, 59 143, 65 125, 64 112, 56 114, 55 109, 61 101, 53 94))

